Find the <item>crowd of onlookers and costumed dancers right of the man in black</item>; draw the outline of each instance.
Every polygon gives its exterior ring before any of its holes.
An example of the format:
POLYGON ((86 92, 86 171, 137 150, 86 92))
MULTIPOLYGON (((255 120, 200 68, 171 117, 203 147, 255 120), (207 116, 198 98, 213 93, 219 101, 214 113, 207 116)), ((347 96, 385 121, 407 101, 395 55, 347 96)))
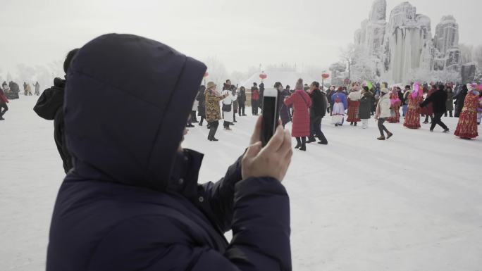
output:
POLYGON ((436 125, 443 128, 443 132, 450 132, 443 123, 445 115, 459 118, 455 135, 463 139, 471 139, 478 136, 477 125, 480 125, 482 112, 482 93, 480 86, 476 84, 443 84, 441 82, 431 84, 414 83, 407 85, 402 90, 398 86, 388 89, 388 84, 368 82, 361 86, 359 82, 352 84, 352 89, 346 87, 329 88, 330 106, 332 108, 332 122, 335 126, 343 125, 345 111, 347 122, 357 126, 361 120, 362 127, 368 127, 368 119, 374 115, 378 120, 378 129, 381 137, 385 140, 393 136, 383 122, 400 123, 400 108, 402 108, 403 125, 409 129, 421 127, 421 116, 425 117, 423 123, 431 123, 430 131, 433 132, 436 125), (455 93, 453 89, 457 89, 455 93), (454 111, 455 104, 455 113, 454 111), (384 135, 386 133, 386 137, 384 135))

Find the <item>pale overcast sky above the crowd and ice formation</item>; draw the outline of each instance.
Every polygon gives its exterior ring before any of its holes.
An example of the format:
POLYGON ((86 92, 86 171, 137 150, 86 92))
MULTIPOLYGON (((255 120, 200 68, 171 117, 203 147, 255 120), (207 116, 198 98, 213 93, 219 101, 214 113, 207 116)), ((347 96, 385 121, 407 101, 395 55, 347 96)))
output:
MULTIPOLYGON (((387 17, 400 0, 387 0, 387 17)), ((482 44, 481 0, 412 0, 417 13, 459 23, 459 41, 482 44), (443 2, 447 4, 442 4, 443 2)), ((229 71, 259 63, 327 67, 353 42, 372 0, 1 0, 0 68, 61 60, 107 32, 139 34, 202 60, 217 56, 229 71)), ((14 71, 13 71, 14 72, 14 71)))

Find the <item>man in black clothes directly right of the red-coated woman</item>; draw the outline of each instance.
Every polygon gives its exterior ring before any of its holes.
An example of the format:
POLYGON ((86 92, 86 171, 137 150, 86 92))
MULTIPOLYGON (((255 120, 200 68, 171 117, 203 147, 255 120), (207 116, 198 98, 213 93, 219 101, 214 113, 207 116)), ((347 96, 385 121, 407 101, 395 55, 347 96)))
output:
POLYGON ((328 140, 325 134, 321 132, 321 120, 326 115, 326 108, 328 107, 326 93, 320 90, 320 83, 316 81, 312 82, 309 88, 308 95, 311 98, 311 108, 309 108, 310 135, 307 143, 316 141, 315 137, 318 137, 318 144, 326 145, 328 140))

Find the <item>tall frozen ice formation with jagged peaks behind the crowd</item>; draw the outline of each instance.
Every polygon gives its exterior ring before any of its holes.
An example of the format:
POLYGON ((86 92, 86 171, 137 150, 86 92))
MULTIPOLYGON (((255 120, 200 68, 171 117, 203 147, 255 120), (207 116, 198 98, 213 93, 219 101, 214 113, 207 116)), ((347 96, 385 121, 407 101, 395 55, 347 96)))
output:
POLYGON ((407 82, 413 70, 453 70, 461 67, 459 25, 452 15, 443 16, 431 32, 431 20, 403 2, 386 21, 385 0, 375 0, 369 19, 354 33, 354 44, 372 58, 376 74, 390 82, 407 82))

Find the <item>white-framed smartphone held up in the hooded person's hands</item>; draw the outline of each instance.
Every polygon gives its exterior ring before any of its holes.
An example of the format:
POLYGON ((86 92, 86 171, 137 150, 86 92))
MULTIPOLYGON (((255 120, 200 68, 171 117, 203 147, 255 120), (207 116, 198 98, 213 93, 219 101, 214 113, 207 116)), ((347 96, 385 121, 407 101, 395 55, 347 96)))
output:
POLYGON ((263 146, 268 144, 269 139, 278 127, 278 119, 280 114, 278 112, 278 90, 265 89, 263 97, 263 120, 261 123, 261 143, 263 146))

